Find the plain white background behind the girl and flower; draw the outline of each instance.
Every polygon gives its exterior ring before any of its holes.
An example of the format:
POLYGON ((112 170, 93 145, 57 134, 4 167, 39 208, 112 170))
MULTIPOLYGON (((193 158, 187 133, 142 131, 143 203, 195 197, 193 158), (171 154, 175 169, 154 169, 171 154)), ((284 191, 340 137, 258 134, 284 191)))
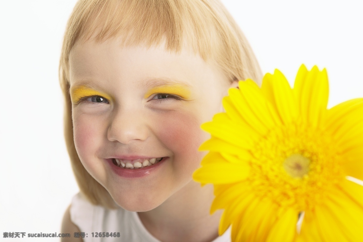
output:
MULTIPOLYGON (((363 97, 360 1, 224 0, 262 71, 293 81, 327 68, 329 106, 363 97)), ((76 0, 0 3, 0 241, 4 232, 59 233, 78 191, 66 152, 58 61, 76 0)), ((18 241, 58 241, 18 239, 18 241)))

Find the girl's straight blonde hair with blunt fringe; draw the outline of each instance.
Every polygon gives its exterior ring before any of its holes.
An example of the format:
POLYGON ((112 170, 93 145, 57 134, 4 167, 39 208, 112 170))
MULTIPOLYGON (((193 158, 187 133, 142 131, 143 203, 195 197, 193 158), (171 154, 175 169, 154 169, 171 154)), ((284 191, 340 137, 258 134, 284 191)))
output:
POLYGON ((73 140, 69 54, 77 42, 119 37, 124 45, 160 45, 178 53, 192 48, 216 63, 232 82, 261 81, 261 70, 246 38, 219 0, 79 0, 68 20, 59 66, 65 97, 64 132, 78 186, 93 204, 115 208, 110 194, 83 167, 73 140))

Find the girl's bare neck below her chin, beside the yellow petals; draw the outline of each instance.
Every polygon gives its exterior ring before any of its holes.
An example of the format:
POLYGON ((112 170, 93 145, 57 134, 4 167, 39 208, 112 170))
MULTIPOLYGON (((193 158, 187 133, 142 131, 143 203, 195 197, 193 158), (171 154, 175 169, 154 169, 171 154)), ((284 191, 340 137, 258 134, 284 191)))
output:
POLYGON ((191 181, 162 205, 139 212, 146 229, 163 242, 210 242, 218 236, 221 211, 210 215, 213 186, 191 181))

